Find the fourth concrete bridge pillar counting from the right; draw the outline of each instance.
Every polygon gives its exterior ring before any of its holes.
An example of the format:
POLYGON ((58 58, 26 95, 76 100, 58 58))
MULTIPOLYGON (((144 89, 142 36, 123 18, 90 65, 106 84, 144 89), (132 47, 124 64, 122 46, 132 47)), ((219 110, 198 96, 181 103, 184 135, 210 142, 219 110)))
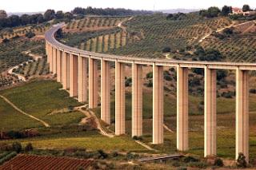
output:
POLYGON ((153 65, 153 144, 163 143, 163 66, 153 65))

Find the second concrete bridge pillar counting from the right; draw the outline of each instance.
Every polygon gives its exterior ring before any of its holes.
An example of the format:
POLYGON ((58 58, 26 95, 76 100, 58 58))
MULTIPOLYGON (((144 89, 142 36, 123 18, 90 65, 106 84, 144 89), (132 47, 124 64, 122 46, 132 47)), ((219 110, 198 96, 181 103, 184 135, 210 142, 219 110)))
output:
POLYGON ((216 70, 205 68, 204 156, 216 156, 216 70))

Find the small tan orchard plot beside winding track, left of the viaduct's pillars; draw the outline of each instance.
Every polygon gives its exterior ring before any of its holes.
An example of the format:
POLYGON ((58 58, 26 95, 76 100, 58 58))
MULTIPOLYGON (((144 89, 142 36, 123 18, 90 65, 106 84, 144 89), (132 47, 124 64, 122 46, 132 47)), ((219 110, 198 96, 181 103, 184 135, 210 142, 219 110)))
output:
POLYGON ((49 65, 46 58, 39 58, 37 61, 28 61, 18 66, 14 73, 22 74, 26 78, 32 76, 42 76, 49 73, 49 65))

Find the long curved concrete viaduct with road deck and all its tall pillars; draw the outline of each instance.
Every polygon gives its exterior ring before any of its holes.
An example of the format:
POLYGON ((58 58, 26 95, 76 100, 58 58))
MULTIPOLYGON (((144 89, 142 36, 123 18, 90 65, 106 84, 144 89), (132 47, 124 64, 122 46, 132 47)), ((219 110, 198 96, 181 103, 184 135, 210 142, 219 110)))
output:
POLYGON ((153 144, 163 143, 163 67, 177 69, 177 149, 186 151, 188 145, 188 69, 205 70, 204 155, 216 155, 216 69, 236 70, 236 146, 235 154, 249 156, 249 88, 248 72, 256 70, 253 63, 208 61, 173 61, 92 53, 58 42, 54 35, 63 23, 46 31, 46 54, 50 72, 57 74, 70 97, 98 106, 98 66, 101 61, 101 119, 110 124, 110 62, 115 63, 115 134, 125 129, 125 65, 132 65, 132 136, 142 136, 142 67, 153 66, 153 144), (87 67, 89 68, 87 69, 87 67), (89 73, 87 73, 89 70, 89 73), (88 75, 89 74, 89 75, 88 75), (89 80, 88 78, 89 77, 89 80), (89 82, 88 82, 89 81, 89 82), (88 87, 89 84, 89 87, 88 87), (89 88, 89 94, 87 89, 89 88))

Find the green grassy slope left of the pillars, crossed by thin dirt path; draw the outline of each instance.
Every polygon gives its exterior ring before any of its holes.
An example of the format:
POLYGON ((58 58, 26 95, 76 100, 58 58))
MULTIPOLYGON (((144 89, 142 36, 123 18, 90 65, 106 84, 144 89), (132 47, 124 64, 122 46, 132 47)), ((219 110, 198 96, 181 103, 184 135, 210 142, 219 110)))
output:
MULTIPOLYGON (((18 106, 19 109, 46 121, 50 125, 77 123, 84 117, 82 113, 72 112, 49 115, 54 110, 80 105, 73 98, 68 97, 66 91, 59 90, 60 88, 61 85, 54 81, 33 81, 27 85, 7 89, 0 93, 18 106)), ((6 109, 8 116, 11 113, 11 109, 6 109)), ((9 120, 6 118, 6 121, 9 120)))

